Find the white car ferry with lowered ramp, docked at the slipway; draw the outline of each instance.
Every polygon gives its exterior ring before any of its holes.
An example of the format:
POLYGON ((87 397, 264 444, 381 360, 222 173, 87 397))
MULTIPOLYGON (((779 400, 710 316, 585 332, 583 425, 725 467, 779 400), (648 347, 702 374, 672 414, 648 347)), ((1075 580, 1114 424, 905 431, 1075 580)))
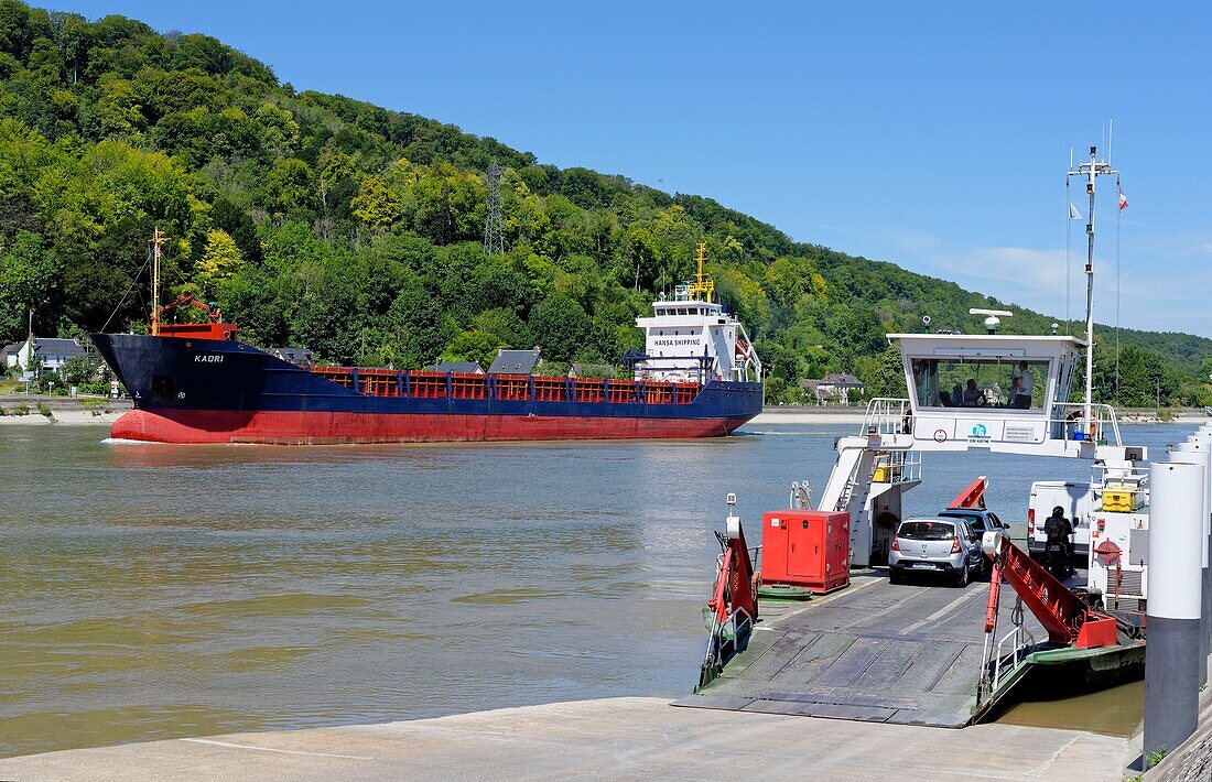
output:
MULTIPOLYGON (((982 308, 968 313, 984 318, 985 333, 888 333, 907 396, 870 400, 859 430, 835 440, 817 501, 806 481, 791 484, 789 506, 761 516, 760 544, 750 548, 728 495, 699 683, 676 706, 964 727, 990 719, 1023 687, 1056 695, 1148 675, 1147 692, 1183 693, 1195 724, 1208 650, 1207 634, 1199 640, 1201 599, 1212 615, 1212 583, 1199 589, 1212 582, 1200 569, 1212 472, 1199 451, 1212 439, 1193 435, 1167 463, 1149 464, 1148 449, 1121 439, 1115 410, 1093 401, 1094 181, 1108 173, 1117 175, 1091 147, 1090 161, 1068 175, 1085 179, 1090 199, 1084 338, 1058 326, 999 333, 1013 313, 982 308), (1079 377, 1085 389, 1073 401, 1079 377), (1076 573, 1058 577, 1034 561, 1000 523, 978 533, 966 521, 939 541, 956 555, 983 554, 988 587, 970 587, 971 559, 941 563, 926 554, 927 538, 905 535, 904 495, 922 483, 922 455, 973 452, 1039 458, 1045 472, 1044 457, 1090 464, 1088 496, 1075 504, 1085 510, 1074 514, 1090 546, 1076 573), (1188 493, 1174 491, 1176 463, 1185 466, 1188 493), (1164 524, 1151 525, 1153 515, 1164 524), (903 584, 903 571, 887 570, 893 553, 924 575, 960 567, 951 582, 959 594, 903 584), (1016 597, 1008 616, 1002 582, 1016 597), (1168 634, 1165 653, 1180 651, 1155 657, 1164 666, 1148 670, 1147 626, 1155 649, 1168 634)), ((931 319, 922 322, 928 330, 931 319)), ((987 486, 977 478, 941 515, 982 518, 987 486)), ((1036 520, 1027 521, 1030 535, 1036 520)), ((1145 746, 1157 747, 1148 712, 1145 746)))

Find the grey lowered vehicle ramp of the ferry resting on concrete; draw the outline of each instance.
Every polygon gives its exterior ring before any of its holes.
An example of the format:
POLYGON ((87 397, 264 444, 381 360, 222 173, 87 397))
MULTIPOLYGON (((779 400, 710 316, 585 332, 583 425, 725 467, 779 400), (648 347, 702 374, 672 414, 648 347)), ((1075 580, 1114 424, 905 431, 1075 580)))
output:
MULTIPOLYGON (((1014 601, 1004 592, 999 634, 1014 601)), ((964 727, 977 712, 988 598, 987 582, 876 575, 806 604, 765 600, 745 651, 675 706, 964 727)), ((1047 639, 1030 612, 1024 620, 1047 639)))

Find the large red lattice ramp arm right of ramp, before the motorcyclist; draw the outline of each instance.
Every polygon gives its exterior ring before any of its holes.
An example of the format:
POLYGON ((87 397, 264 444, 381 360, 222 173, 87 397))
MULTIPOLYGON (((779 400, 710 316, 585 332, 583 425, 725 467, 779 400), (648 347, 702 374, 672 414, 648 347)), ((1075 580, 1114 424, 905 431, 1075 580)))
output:
POLYGON ((1048 640, 1053 644, 1094 649, 1119 643, 1114 617, 1086 605, 1001 532, 985 532, 982 546, 985 555, 994 563, 989 586, 990 613, 985 618, 987 633, 991 627, 993 612, 996 611, 999 582, 1005 577, 1048 632, 1048 640))

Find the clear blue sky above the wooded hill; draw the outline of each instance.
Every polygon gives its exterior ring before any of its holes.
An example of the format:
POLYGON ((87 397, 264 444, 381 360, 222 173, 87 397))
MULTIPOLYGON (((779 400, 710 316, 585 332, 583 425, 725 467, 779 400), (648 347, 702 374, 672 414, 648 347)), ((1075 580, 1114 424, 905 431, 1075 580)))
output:
MULTIPOLYGON (((298 90, 696 193, 791 238, 1064 316, 1069 148, 1131 206, 1121 322, 1212 337, 1212 5, 68 0, 200 32, 298 90), (1092 16, 1096 15, 1097 16, 1092 16)), ((1115 316, 1100 181, 1096 316, 1115 316)), ((1082 213, 1084 195, 1074 199, 1082 213)), ((1074 318, 1085 280, 1073 222, 1074 318)))

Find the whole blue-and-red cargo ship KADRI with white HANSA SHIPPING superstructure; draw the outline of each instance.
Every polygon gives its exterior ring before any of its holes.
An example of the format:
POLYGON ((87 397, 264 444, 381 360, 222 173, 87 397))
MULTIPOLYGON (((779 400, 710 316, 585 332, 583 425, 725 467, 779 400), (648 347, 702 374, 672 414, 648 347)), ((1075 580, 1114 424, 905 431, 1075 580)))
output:
POLYGON ((190 296, 159 307, 153 273, 148 333, 92 335, 133 400, 110 434, 281 445, 722 436, 761 411, 761 361, 715 301, 702 245, 697 259, 693 281, 636 319, 645 350, 624 356, 627 379, 290 361, 241 342, 190 296), (206 322, 165 322, 187 307, 206 322))

